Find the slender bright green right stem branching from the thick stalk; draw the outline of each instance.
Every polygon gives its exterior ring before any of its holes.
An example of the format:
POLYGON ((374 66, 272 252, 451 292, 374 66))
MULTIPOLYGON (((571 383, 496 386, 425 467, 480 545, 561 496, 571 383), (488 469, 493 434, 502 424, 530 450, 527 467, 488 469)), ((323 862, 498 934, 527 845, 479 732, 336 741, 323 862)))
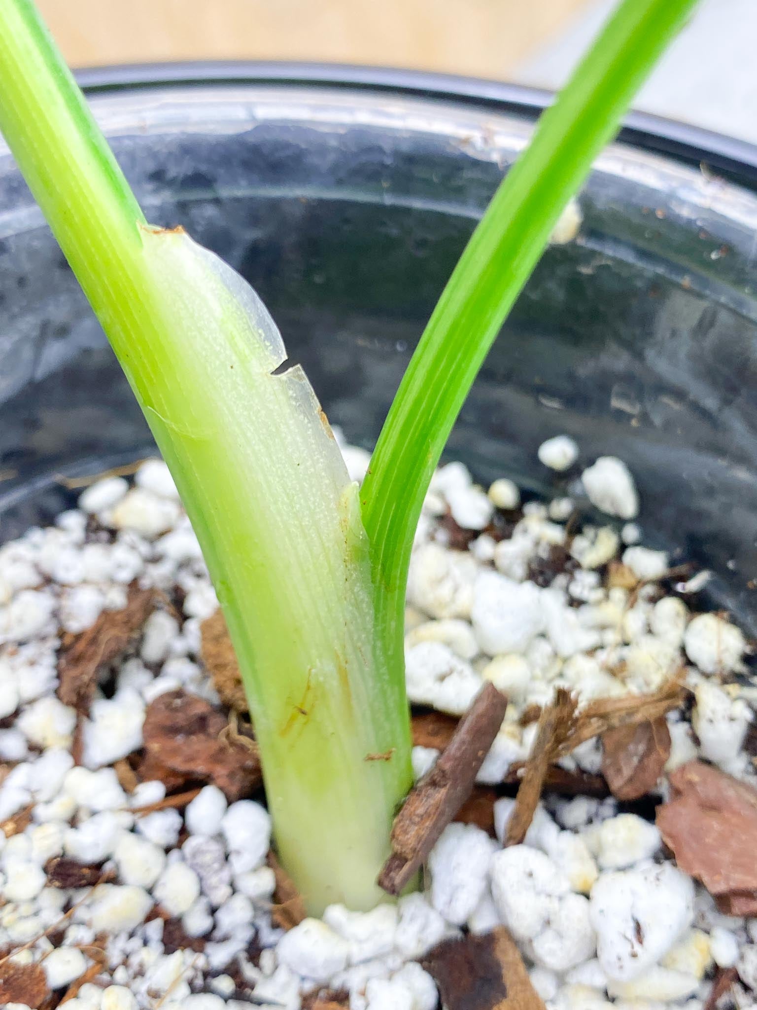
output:
POLYGON ((452 426, 560 213, 695 3, 620 4, 495 194, 405 373, 360 493, 377 629, 400 682, 413 536, 452 426))

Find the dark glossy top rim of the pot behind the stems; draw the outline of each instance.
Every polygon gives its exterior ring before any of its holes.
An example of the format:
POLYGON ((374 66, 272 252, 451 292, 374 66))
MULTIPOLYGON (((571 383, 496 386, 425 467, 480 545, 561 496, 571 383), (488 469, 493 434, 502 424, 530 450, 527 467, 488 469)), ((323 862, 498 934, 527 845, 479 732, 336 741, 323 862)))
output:
MULTIPOLYGON (((516 113, 529 119, 554 99, 554 92, 519 84, 433 71, 297 61, 209 60, 124 64, 76 72, 89 95, 154 87, 291 85, 331 87, 446 100, 516 113)), ((618 137, 644 150, 689 165, 707 166, 731 181, 757 190, 757 144, 647 112, 630 112, 618 137)))

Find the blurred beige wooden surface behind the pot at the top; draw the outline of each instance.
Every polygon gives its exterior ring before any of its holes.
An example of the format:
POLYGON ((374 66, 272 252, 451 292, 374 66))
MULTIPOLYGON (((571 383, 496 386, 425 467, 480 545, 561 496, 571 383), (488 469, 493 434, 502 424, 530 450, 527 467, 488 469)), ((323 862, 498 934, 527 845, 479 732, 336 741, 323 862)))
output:
POLYGON ((589 0, 38 2, 75 67, 297 59, 492 78, 507 78, 590 6, 589 0))

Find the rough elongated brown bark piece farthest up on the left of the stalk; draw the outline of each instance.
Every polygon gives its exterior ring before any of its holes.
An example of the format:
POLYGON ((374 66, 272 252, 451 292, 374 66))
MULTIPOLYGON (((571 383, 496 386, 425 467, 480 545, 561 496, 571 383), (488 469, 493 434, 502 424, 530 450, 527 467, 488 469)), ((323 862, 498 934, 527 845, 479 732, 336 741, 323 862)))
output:
POLYGON ((104 610, 91 628, 76 635, 59 655, 58 696, 87 714, 97 688, 98 673, 131 643, 149 617, 154 602, 151 589, 129 586, 123 610, 104 610))

